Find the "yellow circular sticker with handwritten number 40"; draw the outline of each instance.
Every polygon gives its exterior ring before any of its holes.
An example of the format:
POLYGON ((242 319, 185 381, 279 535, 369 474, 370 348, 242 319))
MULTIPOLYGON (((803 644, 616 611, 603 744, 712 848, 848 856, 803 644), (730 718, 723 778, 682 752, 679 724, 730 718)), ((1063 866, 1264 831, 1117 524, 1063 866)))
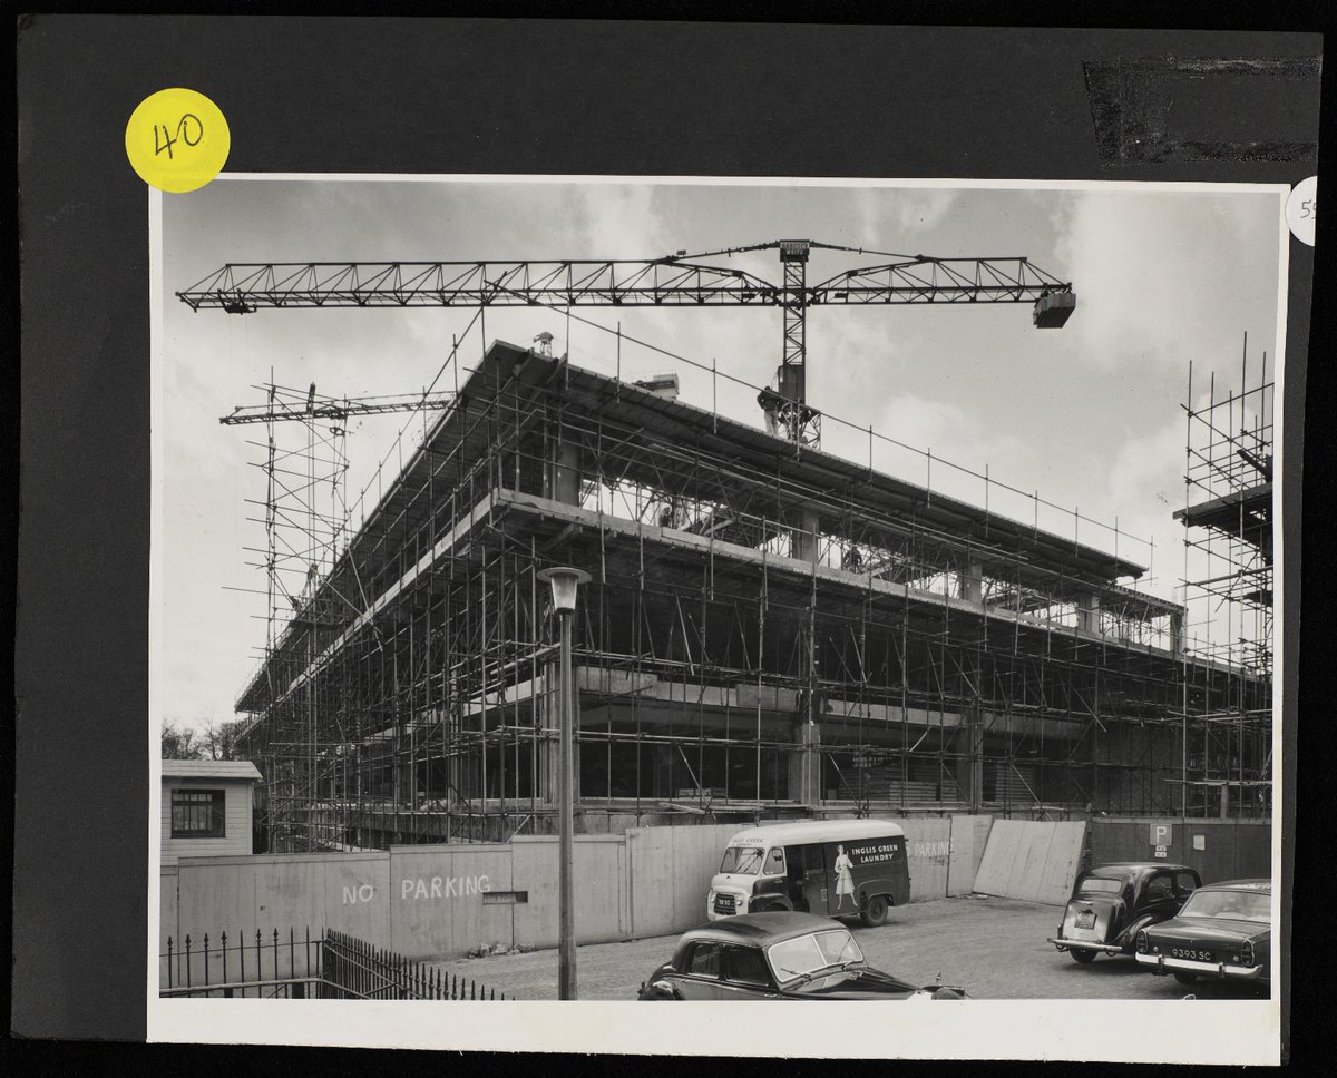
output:
POLYGON ((194 89, 159 89, 126 124, 126 156, 160 191, 197 191, 227 160, 231 134, 218 106, 194 89))

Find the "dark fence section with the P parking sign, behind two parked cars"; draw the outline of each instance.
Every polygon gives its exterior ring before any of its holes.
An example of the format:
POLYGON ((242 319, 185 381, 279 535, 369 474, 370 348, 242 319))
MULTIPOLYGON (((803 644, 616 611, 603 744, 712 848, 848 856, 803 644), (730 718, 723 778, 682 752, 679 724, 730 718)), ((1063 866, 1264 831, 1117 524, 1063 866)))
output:
POLYGON ((1203 883, 1271 875, 1269 820, 1185 822, 1174 816, 1091 820, 1092 864, 1157 860, 1157 846, 1165 847, 1165 860, 1197 868, 1203 883))

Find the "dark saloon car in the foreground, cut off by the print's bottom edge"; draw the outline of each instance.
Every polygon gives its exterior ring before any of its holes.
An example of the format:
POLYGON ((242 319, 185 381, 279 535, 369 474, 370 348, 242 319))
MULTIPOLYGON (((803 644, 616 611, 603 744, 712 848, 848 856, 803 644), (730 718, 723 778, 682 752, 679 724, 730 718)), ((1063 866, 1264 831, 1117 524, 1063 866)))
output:
POLYGON ((964 999, 874 970, 849 928, 813 914, 742 914, 685 932, 638 999, 964 999))

